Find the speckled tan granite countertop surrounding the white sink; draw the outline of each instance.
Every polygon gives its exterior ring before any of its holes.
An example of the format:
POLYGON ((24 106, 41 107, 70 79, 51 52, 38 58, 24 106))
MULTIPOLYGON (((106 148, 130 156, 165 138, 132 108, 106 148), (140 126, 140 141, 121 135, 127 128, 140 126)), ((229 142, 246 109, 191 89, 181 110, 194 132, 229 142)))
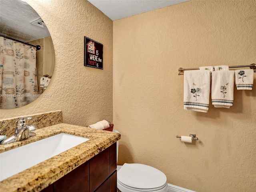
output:
MULTIPOLYGON (((34 137, 11 144, 0 145, 0 153, 60 133, 82 136, 90 140, 2 180, 0 182, 0 191, 38 192, 120 139, 120 134, 115 132, 95 130, 64 123, 41 128, 34 132, 36 133, 34 137)), ((17 157, 17 163, 18 158, 20 157, 17 157)))

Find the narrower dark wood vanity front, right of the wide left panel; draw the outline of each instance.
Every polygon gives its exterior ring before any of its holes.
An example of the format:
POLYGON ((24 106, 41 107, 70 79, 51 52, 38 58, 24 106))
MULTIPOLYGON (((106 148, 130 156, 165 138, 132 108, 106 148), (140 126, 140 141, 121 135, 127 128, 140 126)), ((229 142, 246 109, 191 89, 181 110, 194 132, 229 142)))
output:
POLYGON ((89 160, 90 192, 96 190, 109 176, 108 148, 89 160))

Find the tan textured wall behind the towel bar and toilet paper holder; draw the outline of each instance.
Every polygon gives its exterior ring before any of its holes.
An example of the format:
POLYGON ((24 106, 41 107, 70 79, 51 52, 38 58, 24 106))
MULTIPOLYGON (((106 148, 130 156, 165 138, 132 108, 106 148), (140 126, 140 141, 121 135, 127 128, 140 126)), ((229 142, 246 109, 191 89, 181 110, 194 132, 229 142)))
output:
MULTIPOLYGON (((255 192, 256 85, 230 109, 183 110, 178 68, 256 63, 255 1, 189 1, 113 22, 119 164, 162 170, 198 192, 255 192), (198 142, 176 135, 195 133, 198 142)), ((256 84, 256 74, 254 74, 256 84)))

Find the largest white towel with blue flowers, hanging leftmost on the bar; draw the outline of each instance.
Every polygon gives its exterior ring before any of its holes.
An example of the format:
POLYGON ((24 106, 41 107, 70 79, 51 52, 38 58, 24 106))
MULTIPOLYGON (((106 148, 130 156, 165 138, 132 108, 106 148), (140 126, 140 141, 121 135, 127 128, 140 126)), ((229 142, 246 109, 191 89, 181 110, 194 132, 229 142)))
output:
POLYGON ((210 70, 184 71, 184 110, 208 112, 210 70))

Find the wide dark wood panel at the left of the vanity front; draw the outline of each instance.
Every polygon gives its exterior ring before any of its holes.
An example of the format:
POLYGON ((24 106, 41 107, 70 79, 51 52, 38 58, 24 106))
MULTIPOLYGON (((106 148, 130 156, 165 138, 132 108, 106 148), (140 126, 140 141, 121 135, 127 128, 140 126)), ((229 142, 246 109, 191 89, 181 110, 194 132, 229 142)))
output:
POLYGON ((89 192, 88 162, 54 182, 54 192, 89 192))

